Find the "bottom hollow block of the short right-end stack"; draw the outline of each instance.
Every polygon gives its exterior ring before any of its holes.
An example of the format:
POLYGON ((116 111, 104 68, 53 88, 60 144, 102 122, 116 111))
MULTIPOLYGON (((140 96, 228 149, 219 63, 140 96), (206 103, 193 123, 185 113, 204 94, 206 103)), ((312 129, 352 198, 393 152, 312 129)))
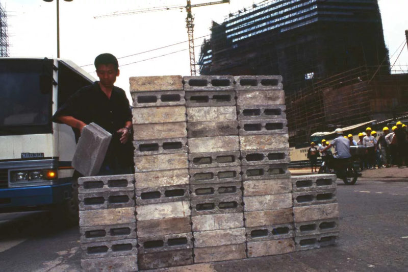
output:
POLYGON ((296 251, 320 249, 322 246, 336 244, 338 232, 295 237, 296 251))

